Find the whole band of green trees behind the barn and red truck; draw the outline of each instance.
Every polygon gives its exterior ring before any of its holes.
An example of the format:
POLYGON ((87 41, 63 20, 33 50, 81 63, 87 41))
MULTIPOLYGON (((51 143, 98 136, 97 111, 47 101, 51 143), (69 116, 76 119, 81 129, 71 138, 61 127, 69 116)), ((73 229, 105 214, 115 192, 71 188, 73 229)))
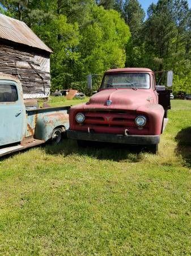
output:
POLYGON ((2 0, 50 47, 52 89, 115 67, 173 69, 174 89, 190 92, 191 10, 187 0, 2 0))

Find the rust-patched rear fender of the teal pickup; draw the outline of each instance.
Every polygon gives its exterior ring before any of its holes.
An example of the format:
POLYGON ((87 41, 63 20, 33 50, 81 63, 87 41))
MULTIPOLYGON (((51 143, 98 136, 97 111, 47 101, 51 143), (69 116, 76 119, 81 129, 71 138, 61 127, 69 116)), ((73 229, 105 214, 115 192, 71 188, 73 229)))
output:
POLYGON ((69 129, 68 114, 52 113, 37 118, 35 127, 35 138, 48 141, 52 137, 53 130, 57 127, 63 131, 69 129))

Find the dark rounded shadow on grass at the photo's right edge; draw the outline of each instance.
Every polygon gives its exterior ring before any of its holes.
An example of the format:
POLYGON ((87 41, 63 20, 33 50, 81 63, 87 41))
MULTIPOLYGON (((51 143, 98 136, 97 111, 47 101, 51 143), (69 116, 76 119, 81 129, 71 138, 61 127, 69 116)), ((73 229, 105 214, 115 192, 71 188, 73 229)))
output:
POLYGON ((191 168, 191 127, 179 131, 175 140, 177 142, 176 154, 181 155, 185 160, 185 165, 191 168))

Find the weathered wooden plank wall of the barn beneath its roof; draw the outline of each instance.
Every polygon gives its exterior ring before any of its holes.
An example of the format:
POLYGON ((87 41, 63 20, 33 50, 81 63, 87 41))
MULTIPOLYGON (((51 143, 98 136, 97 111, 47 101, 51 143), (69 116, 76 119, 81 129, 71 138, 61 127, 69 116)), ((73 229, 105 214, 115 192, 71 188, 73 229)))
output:
POLYGON ((24 98, 47 98, 50 93, 50 58, 27 48, 0 43, 0 72, 22 82, 24 98))

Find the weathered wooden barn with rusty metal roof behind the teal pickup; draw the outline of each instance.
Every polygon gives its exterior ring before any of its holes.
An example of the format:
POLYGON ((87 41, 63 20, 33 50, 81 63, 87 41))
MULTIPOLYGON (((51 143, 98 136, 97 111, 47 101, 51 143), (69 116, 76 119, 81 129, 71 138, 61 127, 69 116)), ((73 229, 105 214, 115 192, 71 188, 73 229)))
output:
POLYGON ((50 53, 26 23, 0 14, 0 72, 18 77, 25 99, 48 97, 50 53))

